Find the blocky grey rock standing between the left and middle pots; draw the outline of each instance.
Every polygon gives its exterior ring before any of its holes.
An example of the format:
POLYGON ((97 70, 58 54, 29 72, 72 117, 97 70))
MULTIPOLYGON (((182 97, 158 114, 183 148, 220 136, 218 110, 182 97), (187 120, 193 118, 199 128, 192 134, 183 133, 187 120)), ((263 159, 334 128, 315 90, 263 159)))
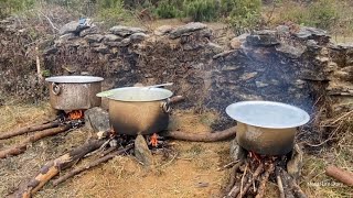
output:
POLYGON ((85 127, 95 132, 109 131, 109 113, 99 107, 86 110, 85 127))

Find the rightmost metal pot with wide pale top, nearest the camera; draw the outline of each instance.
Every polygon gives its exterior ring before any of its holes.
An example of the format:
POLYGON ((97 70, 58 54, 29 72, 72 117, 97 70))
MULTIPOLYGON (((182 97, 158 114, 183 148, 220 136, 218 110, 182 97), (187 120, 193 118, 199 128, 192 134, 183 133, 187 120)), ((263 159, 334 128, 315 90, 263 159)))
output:
POLYGON ((297 107, 272 101, 236 102, 226 108, 226 113, 237 121, 238 144, 264 155, 289 153, 293 148, 297 127, 310 119, 297 107))

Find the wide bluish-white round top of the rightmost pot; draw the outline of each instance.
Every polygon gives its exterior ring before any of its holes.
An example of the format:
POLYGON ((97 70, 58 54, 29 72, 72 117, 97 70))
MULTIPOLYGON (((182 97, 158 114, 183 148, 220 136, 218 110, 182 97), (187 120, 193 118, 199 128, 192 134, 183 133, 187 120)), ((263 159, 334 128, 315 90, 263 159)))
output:
POLYGON ((304 110, 275 101, 235 102, 226 108, 226 113, 238 122, 268 129, 297 128, 310 120, 304 110))

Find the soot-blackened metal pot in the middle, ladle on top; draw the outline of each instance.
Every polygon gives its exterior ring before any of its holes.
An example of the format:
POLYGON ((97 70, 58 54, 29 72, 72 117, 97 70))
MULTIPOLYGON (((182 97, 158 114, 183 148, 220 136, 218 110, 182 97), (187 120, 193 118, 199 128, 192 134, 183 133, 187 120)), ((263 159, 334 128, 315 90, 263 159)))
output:
POLYGON ((117 133, 136 135, 158 133, 168 128, 168 89, 125 87, 114 90, 109 99, 110 125, 117 133))

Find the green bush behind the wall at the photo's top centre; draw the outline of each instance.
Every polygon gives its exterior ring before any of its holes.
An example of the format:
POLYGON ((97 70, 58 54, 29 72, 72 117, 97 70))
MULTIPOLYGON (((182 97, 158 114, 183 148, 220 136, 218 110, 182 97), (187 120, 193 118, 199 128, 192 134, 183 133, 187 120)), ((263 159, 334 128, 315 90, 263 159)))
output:
POLYGON ((218 18, 220 7, 214 0, 185 0, 183 12, 193 21, 215 21, 218 18))

